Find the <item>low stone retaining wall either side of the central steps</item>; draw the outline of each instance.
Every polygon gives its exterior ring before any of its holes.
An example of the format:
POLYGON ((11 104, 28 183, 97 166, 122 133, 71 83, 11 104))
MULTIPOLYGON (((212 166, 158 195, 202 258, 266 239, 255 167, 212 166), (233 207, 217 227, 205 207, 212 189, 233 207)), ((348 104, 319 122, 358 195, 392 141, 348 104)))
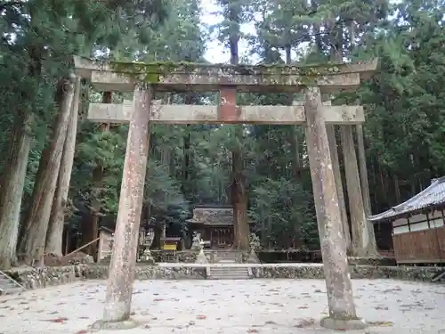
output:
MULTIPOLYGON (((322 265, 248 265, 254 279, 323 279, 322 265)), ((208 268, 208 267, 207 267, 208 268)), ((136 280, 203 280, 206 265, 137 265, 136 280)), ((211 267, 210 267, 211 270, 211 267)), ((436 267, 351 265, 352 279, 431 281, 436 267)), ((80 280, 105 280, 108 265, 67 265, 45 268, 15 268, 5 271, 27 289, 39 289, 80 280)))

